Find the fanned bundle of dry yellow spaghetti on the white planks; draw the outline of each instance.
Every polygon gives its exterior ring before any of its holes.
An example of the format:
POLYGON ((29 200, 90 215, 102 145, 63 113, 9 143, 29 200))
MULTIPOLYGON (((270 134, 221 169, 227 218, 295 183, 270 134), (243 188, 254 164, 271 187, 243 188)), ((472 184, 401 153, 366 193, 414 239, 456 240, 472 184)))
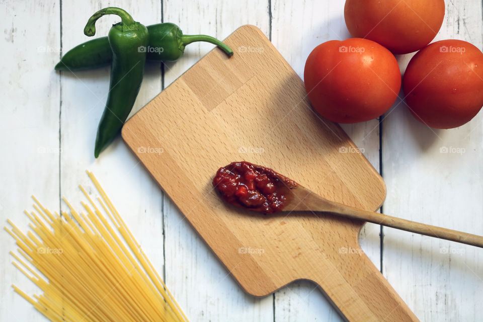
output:
POLYGON ((86 214, 65 199, 70 215, 52 214, 33 197, 36 211, 25 211, 31 231, 24 234, 8 220, 12 228, 5 229, 21 255, 10 252, 13 264, 43 294, 30 297, 13 285, 15 291, 52 321, 187 321, 97 179, 88 175, 102 198, 96 205, 79 186, 93 207, 82 203, 86 214))

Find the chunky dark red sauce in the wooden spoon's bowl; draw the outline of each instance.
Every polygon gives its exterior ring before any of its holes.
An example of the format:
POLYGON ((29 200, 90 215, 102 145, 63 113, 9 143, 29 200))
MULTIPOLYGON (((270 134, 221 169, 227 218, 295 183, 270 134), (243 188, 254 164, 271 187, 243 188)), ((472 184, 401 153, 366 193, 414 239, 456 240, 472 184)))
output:
POLYGON ((226 202, 265 213, 281 211, 289 190, 297 187, 296 182, 272 169, 245 161, 220 168, 212 184, 226 202))

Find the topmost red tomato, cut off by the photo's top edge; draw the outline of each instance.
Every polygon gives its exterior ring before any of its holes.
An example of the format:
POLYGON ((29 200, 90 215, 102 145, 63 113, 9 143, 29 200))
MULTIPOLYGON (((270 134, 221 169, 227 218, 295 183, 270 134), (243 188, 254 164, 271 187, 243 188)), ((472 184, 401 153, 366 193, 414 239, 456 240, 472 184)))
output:
POLYGON ((443 23, 444 0, 346 0, 344 18, 352 37, 407 54, 434 39, 443 23))

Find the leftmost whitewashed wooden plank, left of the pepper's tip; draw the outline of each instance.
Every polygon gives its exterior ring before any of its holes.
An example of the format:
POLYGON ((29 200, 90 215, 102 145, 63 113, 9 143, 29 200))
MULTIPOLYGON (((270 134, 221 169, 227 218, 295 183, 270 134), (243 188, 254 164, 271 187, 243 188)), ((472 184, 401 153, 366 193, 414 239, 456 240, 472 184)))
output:
MULTIPOLYGON (((25 230, 28 218, 23 210, 33 210, 35 194, 46 206, 58 211, 59 202, 59 77, 52 67, 59 58, 59 2, 41 6, 34 2, 0 2, 2 12, 2 118, 0 146, 2 185, 0 221, 10 218, 25 230)), ((12 265, 10 250, 14 239, 0 233, 0 320, 44 320, 12 284, 28 294, 38 293, 12 265)))

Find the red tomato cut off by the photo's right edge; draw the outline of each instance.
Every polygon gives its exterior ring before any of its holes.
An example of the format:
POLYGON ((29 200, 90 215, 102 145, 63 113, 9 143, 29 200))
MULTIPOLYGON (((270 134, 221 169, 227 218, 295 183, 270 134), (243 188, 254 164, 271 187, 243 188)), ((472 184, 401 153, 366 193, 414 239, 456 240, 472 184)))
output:
POLYGON ((462 40, 441 40, 409 62, 403 89, 411 113, 424 124, 449 129, 483 106, 483 53, 462 40))

